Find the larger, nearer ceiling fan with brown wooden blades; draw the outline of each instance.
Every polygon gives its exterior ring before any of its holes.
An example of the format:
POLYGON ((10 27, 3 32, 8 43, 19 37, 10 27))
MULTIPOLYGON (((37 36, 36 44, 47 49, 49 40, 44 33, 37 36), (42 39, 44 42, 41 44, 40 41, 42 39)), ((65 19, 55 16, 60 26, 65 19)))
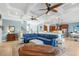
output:
POLYGON ((40 10, 47 10, 45 14, 47 14, 49 11, 58 12, 57 8, 59 6, 61 6, 62 4, 63 3, 57 3, 57 4, 53 5, 53 6, 51 6, 51 4, 45 3, 47 8, 46 9, 40 9, 40 10))

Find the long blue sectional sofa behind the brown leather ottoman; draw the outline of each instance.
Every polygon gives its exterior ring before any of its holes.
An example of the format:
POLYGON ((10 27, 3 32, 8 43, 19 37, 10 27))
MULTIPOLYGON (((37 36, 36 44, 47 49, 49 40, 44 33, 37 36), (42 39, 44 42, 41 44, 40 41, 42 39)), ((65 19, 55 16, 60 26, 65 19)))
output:
POLYGON ((52 46, 57 46, 57 41, 56 39, 58 38, 57 35, 53 34, 24 34, 23 39, 24 43, 29 42, 29 40, 32 39, 38 39, 44 42, 46 45, 52 45, 52 46))

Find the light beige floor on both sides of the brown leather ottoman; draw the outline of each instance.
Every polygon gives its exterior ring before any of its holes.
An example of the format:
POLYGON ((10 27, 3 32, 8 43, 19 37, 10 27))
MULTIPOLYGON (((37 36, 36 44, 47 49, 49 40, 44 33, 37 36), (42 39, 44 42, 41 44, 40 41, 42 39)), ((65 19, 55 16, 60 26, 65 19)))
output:
MULTIPOLYGON (((0 43, 0 56, 18 56, 18 41, 0 43)), ((79 42, 66 38, 65 49, 61 56, 79 56, 79 42)))

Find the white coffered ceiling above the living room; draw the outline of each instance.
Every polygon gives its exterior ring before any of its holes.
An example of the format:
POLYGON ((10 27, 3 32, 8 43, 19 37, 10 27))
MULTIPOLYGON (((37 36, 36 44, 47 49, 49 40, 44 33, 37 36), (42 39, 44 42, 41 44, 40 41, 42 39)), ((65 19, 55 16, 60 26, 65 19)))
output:
MULTIPOLYGON (((56 3, 51 3, 51 5, 54 5, 56 3)), ((45 3, 0 3, 0 13, 16 18, 23 18, 27 19, 31 16, 40 16, 44 14, 46 5, 45 3)), ((64 3, 62 6, 59 7, 58 13, 55 12, 49 12, 47 15, 42 15, 45 19, 46 16, 49 19, 53 19, 53 17, 61 17, 65 19, 74 19, 77 17, 79 19, 79 4, 78 3, 64 3)), ((42 17, 41 16, 41 17, 42 17)), ((39 17, 39 18, 41 18, 39 17)), ((48 19, 47 18, 47 19, 48 19)), ((68 20, 67 20, 68 21, 68 20)), ((79 21, 79 20, 78 20, 79 21)))

